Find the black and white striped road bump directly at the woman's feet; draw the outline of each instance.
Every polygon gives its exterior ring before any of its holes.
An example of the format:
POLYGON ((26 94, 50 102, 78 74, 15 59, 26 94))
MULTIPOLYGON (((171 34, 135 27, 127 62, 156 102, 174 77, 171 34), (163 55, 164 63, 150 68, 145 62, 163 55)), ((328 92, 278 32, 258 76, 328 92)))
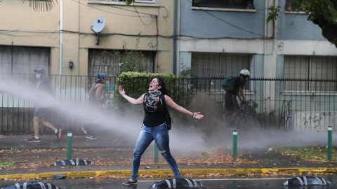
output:
POLYGON ((192 179, 168 179, 153 183, 149 189, 166 189, 166 188, 205 188, 204 184, 192 179))

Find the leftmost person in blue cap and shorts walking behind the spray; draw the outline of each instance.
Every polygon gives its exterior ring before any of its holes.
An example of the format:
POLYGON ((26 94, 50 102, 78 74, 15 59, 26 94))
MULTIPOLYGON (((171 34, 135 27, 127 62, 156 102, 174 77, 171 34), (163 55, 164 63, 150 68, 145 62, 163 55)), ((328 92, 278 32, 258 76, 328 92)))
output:
MULTIPOLYGON (((34 70, 36 73, 35 78, 37 78, 37 90, 40 92, 45 92, 48 95, 54 96, 53 88, 51 87, 51 80, 46 76, 46 71, 42 68, 34 70)), ((48 113, 48 107, 39 106, 35 108, 34 111, 34 137, 32 139, 27 140, 28 142, 40 142, 39 138, 39 128, 40 124, 45 125, 46 127, 51 128, 53 132, 55 132, 56 137, 58 137, 58 141, 61 141, 62 133, 61 129, 56 129, 51 123, 44 120, 46 117, 46 113, 48 113)))

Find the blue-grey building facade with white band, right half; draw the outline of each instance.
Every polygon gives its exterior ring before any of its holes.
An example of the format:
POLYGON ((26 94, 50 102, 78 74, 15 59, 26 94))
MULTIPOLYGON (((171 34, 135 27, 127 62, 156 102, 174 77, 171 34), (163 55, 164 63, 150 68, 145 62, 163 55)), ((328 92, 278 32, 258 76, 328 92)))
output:
MULTIPOLYGON (((259 113, 282 116, 284 104, 292 103, 289 113, 300 115, 300 121, 323 119, 319 112, 336 119, 336 82, 309 80, 337 79, 337 49, 305 12, 286 9, 288 4, 180 1, 178 72, 190 68, 201 78, 223 78, 249 69, 252 78, 282 78, 251 80, 246 86, 246 96, 256 100, 259 113), (267 22, 271 7, 279 7, 277 20, 267 22)), ((201 88, 221 98, 225 91, 219 81, 201 88)))

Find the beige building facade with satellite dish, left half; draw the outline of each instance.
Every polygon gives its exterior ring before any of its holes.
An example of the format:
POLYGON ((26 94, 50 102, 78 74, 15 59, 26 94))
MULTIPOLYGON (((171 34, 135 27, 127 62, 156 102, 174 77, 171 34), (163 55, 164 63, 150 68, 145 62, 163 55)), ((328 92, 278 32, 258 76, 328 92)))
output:
POLYGON ((122 59, 128 50, 143 52, 147 71, 172 73, 173 6, 173 1, 161 0, 136 1, 134 6, 62 0, 49 11, 35 11, 29 3, 3 1, 1 73, 46 67, 51 75, 116 76, 120 66, 129 63, 122 59), (95 25, 103 29, 94 32, 95 25), (113 57, 116 52, 119 57, 113 57))

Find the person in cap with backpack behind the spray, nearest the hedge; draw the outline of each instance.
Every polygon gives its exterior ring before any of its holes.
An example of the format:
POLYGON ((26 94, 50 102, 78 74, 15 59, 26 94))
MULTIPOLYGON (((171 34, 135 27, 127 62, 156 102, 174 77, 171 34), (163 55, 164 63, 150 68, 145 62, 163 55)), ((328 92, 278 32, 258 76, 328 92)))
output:
MULTIPOLYGON (((95 80, 95 83, 93 83, 93 86, 91 87, 91 90, 89 91, 89 105, 95 109, 100 111, 103 109, 103 104, 105 104, 105 96, 103 94, 104 92, 104 85, 105 81, 107 80, 107 75, 105 73, 100 73, 97 76, 97 79, 95 80)), ((82 127, 81 130, 86 134, 87 139, 97 139, 96 137, 93 137, 92 135, 88 134, 88 130, 85 127, 82 127)))

